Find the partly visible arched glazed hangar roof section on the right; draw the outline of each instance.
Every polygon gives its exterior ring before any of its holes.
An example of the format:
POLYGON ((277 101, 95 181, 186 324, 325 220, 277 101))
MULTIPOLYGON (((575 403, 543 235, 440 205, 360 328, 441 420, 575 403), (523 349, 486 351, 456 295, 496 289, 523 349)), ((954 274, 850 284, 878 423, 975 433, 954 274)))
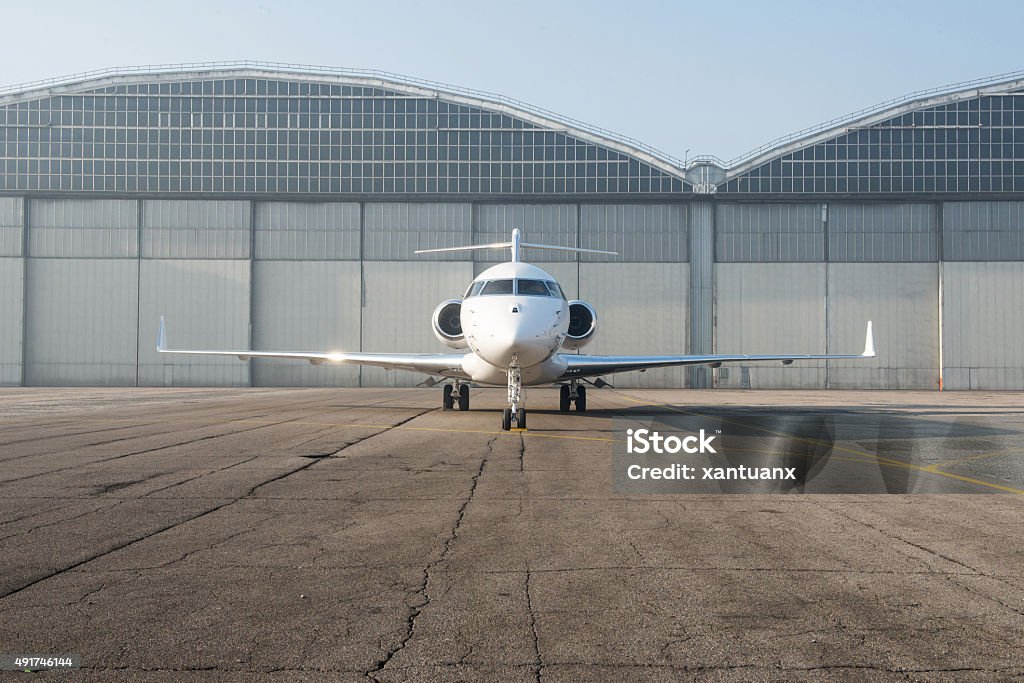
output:
POLYGON ((697 162, 726 194, 1021 193, 1024 73, 911 93, 728 163, 697 162))

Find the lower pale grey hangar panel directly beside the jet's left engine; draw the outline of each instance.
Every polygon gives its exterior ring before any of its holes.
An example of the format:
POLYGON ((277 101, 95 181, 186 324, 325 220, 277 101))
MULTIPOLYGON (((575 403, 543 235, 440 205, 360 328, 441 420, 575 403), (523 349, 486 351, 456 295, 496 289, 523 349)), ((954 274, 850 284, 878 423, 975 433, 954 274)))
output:
MULTIPOLYGON (((362 350, 451 352, 434 337, 430 316, 444 299, 462 297, 472 273, 469 262, 364 264, 362 350)), ((364 386, 415 386, 424 379, 416 373, 362 369, 364 386)))

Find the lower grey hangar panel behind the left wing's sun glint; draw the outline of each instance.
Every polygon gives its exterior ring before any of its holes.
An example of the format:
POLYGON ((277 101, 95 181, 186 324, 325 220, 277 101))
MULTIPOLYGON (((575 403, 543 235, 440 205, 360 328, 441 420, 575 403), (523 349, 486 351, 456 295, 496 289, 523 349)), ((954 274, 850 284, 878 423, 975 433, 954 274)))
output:
MULTIPOLYGON (((253 265, 253 347, 359 350, 360 283, 355 261, 257 261, 253 265)), ((254 359, 256 386, 358 386, 353 366, 254 359)))

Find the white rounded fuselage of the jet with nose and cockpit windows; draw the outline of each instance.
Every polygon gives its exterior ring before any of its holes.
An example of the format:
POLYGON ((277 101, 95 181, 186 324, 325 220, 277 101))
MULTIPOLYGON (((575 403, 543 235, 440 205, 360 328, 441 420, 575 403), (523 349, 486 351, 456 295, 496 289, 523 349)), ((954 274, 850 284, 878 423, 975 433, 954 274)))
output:
POLYGON ((555 279, 536 265, 501 263, 480 273, 462 302, 462 329, 471 353, 463 370, 474 382, 505 384, 515 364, 523 384, 553 382, 565 372, 558 354, 569 307, 555 279), (547 286, 547 290, 545 289, 547 286))

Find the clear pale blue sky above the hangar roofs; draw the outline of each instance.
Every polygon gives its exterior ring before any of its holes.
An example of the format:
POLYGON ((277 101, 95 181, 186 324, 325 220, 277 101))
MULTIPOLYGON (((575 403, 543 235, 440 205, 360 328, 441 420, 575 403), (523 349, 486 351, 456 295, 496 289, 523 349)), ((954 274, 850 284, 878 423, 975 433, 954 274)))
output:
POLYGON ((0 84, 255 59, 501 93, 731 159, 900 95, 1024 70, 1024 3, 7 0, 0 84))

